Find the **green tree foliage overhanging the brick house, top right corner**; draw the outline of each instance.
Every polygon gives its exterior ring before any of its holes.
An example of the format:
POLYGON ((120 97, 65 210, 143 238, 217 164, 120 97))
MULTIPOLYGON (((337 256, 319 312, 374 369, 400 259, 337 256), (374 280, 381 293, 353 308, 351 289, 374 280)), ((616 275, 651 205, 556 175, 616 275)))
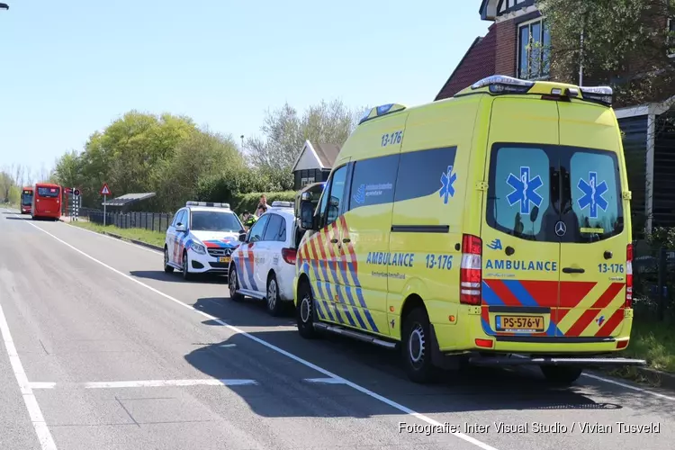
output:
POLYGON ((670 0, 540 0, 537 5, 551 30, 551 71, 557 79, 578 83, 582 67, 584 79, 613 82, 624 104, 662 100, 671 91, 670 0))

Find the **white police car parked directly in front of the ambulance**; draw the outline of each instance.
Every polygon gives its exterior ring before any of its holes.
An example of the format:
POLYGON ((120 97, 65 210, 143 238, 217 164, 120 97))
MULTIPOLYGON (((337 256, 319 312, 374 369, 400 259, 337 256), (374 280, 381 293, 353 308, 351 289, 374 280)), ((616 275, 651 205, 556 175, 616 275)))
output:
POLYGON ((232 254, 229 297, 264 300, 273 316, 292 304, 295 251, 302 238, 299 230, 293 202, 272 202, 232 254))

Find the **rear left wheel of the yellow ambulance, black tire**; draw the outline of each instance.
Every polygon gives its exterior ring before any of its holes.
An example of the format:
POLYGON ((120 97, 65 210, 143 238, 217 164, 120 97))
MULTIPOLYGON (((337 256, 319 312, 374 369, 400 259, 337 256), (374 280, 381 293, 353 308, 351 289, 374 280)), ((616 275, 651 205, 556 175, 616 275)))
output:
POLYGON ((414 383, 432 383, 437 367, 431 362, 431 325, 427 311, 418 306, 403 319, 401 356, 405 371, 414 383))

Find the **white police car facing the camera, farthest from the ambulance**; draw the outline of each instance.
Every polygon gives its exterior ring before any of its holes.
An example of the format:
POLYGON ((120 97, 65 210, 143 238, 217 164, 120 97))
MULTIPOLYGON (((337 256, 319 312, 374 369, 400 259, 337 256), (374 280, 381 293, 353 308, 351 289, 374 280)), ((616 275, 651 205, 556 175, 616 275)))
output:
POLYGON ((245 236, 244 226, 228 203, 186 202, 166 229, 164 271, 180 270, 184 279, 227 275, 239 236, 245 236))

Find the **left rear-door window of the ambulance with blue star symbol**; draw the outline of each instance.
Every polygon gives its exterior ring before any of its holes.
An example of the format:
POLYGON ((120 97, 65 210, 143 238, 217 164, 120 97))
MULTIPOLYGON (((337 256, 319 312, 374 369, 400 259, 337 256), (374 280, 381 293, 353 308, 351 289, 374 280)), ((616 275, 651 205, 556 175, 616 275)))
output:
POLYGON ((540 236, 540 232, 546 212, 550 213, 550 167, 556 164, 543 148, 518 144, 493 148, 488 225, 519 238, 555 240, 555 236, 540 236))

